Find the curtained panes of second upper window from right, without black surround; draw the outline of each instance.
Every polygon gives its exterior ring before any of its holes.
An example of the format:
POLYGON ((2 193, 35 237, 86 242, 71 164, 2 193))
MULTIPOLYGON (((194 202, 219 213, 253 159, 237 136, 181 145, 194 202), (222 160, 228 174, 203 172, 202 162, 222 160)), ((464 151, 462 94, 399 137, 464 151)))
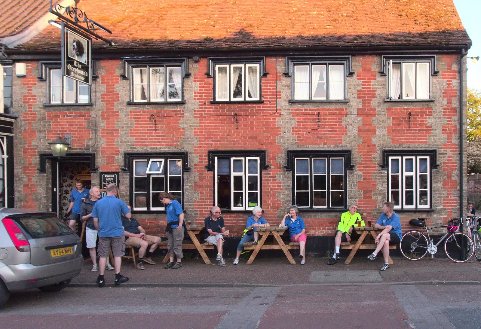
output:
POLYGON ((303 63, 294 65, 294 100, 344 100, 343 64, 303 63))

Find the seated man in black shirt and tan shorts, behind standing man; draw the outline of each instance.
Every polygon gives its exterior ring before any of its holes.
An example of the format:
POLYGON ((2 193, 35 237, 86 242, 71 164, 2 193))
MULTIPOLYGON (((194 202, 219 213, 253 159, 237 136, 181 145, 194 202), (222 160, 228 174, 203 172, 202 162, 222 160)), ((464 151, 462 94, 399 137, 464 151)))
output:
MULTIPOLYGON (((130 206, 128 206, 130 209, 130 206)), ((122 226, 124 228, 125 245, 126 247, 139 248, 139 258, 137 259, 137 269, 145 269, 143 262, 147 264, 155 265, 152 260, 152 253, 159 245, 161 238, 153 235, 145 234, 145 230, 140 226, 139 222, 135 218, 128 219, 122 215, 122 226), (149 251, 146 252, 147 247, 151 246, 149 251)))

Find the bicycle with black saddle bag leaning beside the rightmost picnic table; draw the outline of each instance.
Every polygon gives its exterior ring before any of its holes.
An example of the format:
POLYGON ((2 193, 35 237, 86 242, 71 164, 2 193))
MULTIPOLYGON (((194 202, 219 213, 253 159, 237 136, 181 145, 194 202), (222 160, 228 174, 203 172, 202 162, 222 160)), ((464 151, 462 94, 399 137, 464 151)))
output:
POLYGON ((438 251, 438 245, 444 241, 444 253, 450 260, 456 263, 467 262, 474 254, 473 241, 465 233, 456 232, 459 229, 459 221, 453 218, 448 221, 448 225, 441 225, 428 228, 425 220, 429 218, 411 219, 409 224, 424 228, 424 231, 409 230, 407 231, 400 242, 400 249, 403 256, 409 260, 420 260, 428 252, 431 258, 438 251), (447 228, 447 232, 436 243, 430 238, 429 231, 434 228, 447 228), (427 237, 426 237, 427 236, 427 237))

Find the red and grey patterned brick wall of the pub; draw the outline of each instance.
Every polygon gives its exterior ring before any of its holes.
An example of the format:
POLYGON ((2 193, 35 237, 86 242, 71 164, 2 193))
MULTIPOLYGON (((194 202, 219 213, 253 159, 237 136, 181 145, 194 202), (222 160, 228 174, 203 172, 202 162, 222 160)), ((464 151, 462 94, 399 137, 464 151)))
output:
MULTIPOLYGON (((269 168, 262 171, 265 217, 277 223, 291 205, 291 172, 286 171, 287 150, 351 149, 353 170, 347 173, 348 202, 355 202, 363 217, 377 218, 387 198, 387 173, 380 168, 382 150, 436 149, 429 213, 399 212, 403 229, 410 218, 429 216, 441 223, 457 215, 459 195, 458 56, 437 55, 438 76, 432 76, 435 101, 386 102, 386 76, 380 56, 354 56, 354 76, 347 77, 349 102, 290 103, 291 78, 283 57, 267 57, 268 76, 262 78, 264 103, 212 104, 213 79, 207 59, 190 60, 192 75, 183 80, 185 104, 127 105, 128 80, 121 79, 120 60, 96 63, 99 78, 91 88, 92 106, 42 106, 45 82, 38 63, 28 62, 28 76, 14 77, 15 196, 25 208, 51 209, 51 170, 38 174, 38 154, 49 152, 47 142, 57 134, 72 133, 69 152, 94 152, 99 171, 119 171, 124 152, 189 153, 190 172, 184 176, 186 218, 202 221, 213 204, 212 171, 207 152, 266 150, 269 168), (276 92, 277 91, 277 92, 276 92), (277 112, 277 113, 276 113, 277 112), (411 112, 409 118, 408 113, 411 112), (233 118, 238 114, 239 123, 233 118), (317 114, 320 113, 319 122, 317 114), (150 114, 163 115, 154 130, 150 114)), ((465 82, 463 82, 465 83, 465 82)), ((464 100, 465 101, 465 100, 464 100)), ((49 165, 49 161, 48 161, 49 165)), ((92 174, 98 182, 99 174, 92 174)), ((129 173, 120 173, 121 197, 129 200, 129 173)), ((241 235, 246 213, 225 214, 226 225, 241 235)), ((339 212, 305 212, 310 235, 332 235, 339 212)), ((136 214, 150 233, 160 233, 165 214, 136 214)))

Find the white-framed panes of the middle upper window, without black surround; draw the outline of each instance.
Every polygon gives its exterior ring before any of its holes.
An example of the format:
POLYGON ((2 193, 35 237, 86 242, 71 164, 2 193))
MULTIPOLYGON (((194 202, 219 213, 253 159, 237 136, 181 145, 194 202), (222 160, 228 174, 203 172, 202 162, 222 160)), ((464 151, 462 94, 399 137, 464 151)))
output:
POLYGON ((215 64, 215 101, 259 100, 259 64, 215 64))

